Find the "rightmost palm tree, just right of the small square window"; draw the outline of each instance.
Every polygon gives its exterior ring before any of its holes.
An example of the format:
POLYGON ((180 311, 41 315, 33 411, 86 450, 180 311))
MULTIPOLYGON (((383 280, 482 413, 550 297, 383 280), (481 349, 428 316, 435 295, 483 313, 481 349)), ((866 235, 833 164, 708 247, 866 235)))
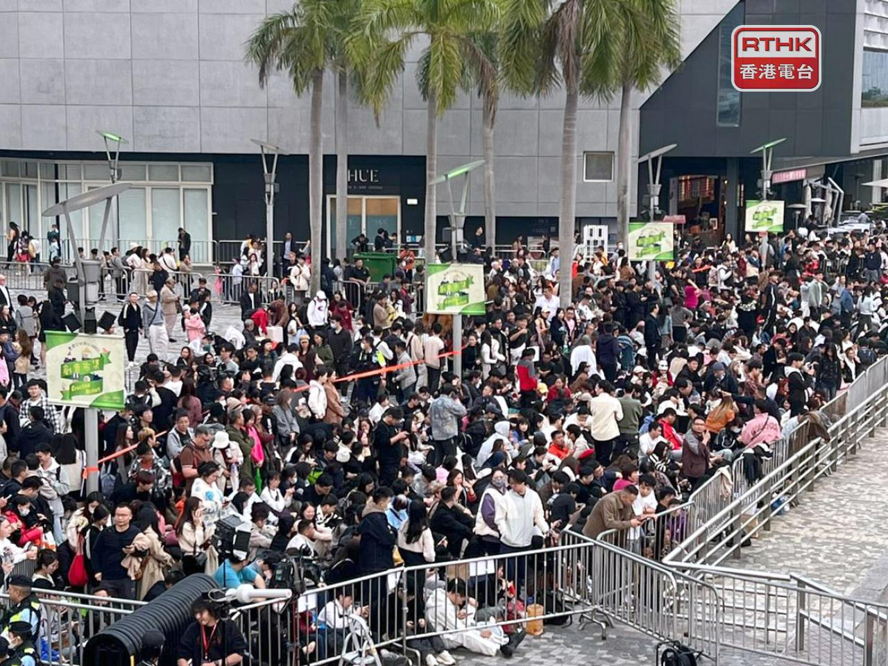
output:
POLYGON ((619 238, 629 247, 630 113, 632 89, 646 90, 660 79, 661 68, 681 62, 676 0, 623 0, 620 130, 617 142, 616 209, 619 238))

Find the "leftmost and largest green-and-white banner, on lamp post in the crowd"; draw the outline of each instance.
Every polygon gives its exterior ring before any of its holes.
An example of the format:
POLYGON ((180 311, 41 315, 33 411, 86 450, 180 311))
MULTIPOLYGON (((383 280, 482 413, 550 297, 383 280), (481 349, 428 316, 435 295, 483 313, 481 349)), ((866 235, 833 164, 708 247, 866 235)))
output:
POLYGON ((121 409, 125 373, 123 336, 46 331, 46 386, 50 402, 121 409))

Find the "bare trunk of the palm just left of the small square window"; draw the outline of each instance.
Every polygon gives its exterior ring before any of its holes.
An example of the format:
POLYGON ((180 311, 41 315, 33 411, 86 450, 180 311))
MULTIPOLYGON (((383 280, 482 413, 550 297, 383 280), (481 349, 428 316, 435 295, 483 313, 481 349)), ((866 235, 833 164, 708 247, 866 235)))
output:
POLYGON ((567 88, 564 103, 564 126, 561 133, 561 206, 559 209, 559 298, 561 306, 571 301, 571 265, 574 260, 574 227, 576 217, 576 106, 579 91, 567 88))

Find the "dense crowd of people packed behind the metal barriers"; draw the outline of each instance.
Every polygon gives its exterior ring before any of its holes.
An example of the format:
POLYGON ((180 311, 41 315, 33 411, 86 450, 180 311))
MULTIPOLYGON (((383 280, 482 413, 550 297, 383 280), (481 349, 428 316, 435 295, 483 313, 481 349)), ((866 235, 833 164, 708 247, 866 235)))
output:
MULTIPOLYGON (((838 239, 729 236, 719 247, 694 238, 653 278, 620 245, 598 248, 571 266, 567 306, 557 249, 534 260, 520 244, 508 257, 479 245, 472 260, 484 264, 488 313, 466 317, 459 341, 448 317, 411 308, 411 258, 371 283, 360 261, 337 272, 291 250, 291 269, 305 272, 291 270, 274 293, 245 282, 243 325, 215 332, 205 283, 185 302, 175 279, 146 284, 118 326, 130 361, 139 336, 151 353, 125 407, 101 420, 100 456, 115 457, 89 495, 83 415, 59 411, 27 377, 42 309, 27 297, 12 307, 7 293, 4 571, 34 559, 33 587, 150 600, 194 572, 228 587, 274 585, 288 553, 337 583, 396 563, 519 558, 566 530, 615 531, 659 559, 682 535, 658 514, 741 456, 757 480, 784 433, 802 421, 828 427, 821 407, 885 353, 884 232, 877 223, 838 239), (328 274, 314 295, 310 270, 328 274), (355 283, 360 298, 350 299, 344 288, 355 283), (180 329, 189 342, 175 355, 180 329), (242 551, 218 541, 233 516, 249 528, 242 551)), ((52 293, 46 304, 56 306, 52 293)), ((451 663, 457 646, 514 653, 524 631, 488 622, 521 613, 533 575, 493 575, 499 592, 483 600, 460 577, 411 585, 422 603, 409 622, 428 666, 451 663), (457 617, 472 630, 421 640, 418 627, 451 629, 457 617)), ((30 590, 15 580, 11 590, 30 590)), ((366 610, 378 593, 327 601, 305 611, 316 630, 305 636, 327 637, 305 639, 306 661, 329 656, 351 612, 369 614, 377 633, 393 630, 366 610)), ((195 607, 195 626, 217 611, 195 607)))

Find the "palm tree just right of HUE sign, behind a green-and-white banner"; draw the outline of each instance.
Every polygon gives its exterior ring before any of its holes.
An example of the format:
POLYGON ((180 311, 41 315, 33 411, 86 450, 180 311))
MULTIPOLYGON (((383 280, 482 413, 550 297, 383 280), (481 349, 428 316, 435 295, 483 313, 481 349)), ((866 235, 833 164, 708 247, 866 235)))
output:
POLYGON ((350 41, 352 59, 361 62, 361 101, 378 114, 385 106, 404 58, 420 37, 428 40, 416 70, 416 83, 427 107, 425 145, 424 254, 432 261, 437 207, 438 119, 464 87, 466 67, 492 72, 488 57, 471 35, 496 24, 496 0, 364 0, 361 35, 350 41))

